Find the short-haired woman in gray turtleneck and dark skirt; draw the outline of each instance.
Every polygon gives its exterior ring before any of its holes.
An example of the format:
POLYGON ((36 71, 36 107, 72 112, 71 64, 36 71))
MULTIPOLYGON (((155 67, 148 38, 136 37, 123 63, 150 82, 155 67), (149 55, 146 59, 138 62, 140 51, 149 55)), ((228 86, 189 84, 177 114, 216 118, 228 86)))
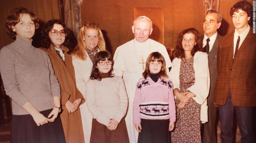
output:
POLYGON ((59 83, 48 55, 32 46, 37 16, 26 8, 14 8, 6 27, 16 39, 0 51, 0 72, 12 99, 11 142, 65 142, 57 118, 59 83))

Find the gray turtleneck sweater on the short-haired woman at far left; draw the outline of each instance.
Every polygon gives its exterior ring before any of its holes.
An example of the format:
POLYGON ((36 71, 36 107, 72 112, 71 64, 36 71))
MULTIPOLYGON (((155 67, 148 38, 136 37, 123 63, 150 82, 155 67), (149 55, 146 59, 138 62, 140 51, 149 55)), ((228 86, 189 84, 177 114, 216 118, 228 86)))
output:
POLYGON ((16 36, 0 51, 0 72, 6 94, 12 99, 12 114, 26 115, 21 108, 28 101, 38 110, 54 107, 53 96, 60 97, 60 86, 48 55, 16 36))

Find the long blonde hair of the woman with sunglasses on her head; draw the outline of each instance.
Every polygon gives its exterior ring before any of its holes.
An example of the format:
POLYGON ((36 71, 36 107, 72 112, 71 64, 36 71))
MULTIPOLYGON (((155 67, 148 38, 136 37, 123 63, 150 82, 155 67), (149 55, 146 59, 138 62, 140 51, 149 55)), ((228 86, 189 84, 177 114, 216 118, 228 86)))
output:
POLYGON ((84 34, 85 34, 85 30, 88 29, 96 29, 99 31, 99 42, 97 47, 99 48, 99 51, 106 51, 106 45, 105 45, 105 40, 103 37, 102 32, 100 31, 99 27, 97 26, 83 26, 78 33, 78 37, 77 37, 77 41, 78 41, 78 45, 75 47, 75 49, 71 52, 72 56, 75 56, 76 58, 79 58, 81 60, 86 60, 87 55, 85 53, 85 42, 84 42, 84 34))

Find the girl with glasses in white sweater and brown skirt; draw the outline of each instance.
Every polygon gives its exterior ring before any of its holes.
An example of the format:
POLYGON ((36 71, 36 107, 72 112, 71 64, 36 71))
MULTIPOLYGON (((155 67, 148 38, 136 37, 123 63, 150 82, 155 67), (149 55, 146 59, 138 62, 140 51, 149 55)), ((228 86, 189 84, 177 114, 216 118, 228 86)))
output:
POLYGON ((94 118, 90 143, 129 143, 123 118, 128 98, 122 78, 114 76, 112 71, 110 53, 98 52, 86 83, 87 107, 94 118))

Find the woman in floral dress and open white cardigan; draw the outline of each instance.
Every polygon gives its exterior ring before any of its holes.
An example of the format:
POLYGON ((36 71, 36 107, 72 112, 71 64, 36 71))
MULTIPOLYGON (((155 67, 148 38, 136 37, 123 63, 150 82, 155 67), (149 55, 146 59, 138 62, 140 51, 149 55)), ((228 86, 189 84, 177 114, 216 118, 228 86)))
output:
POLYGON ((173 143, 201 143, 201 122, 207 122, 207 96, 210 86, 208 56, 194 28, 183 30, 177 40, 169 78, 176 97, 177 121, 171 134, 173 143))

